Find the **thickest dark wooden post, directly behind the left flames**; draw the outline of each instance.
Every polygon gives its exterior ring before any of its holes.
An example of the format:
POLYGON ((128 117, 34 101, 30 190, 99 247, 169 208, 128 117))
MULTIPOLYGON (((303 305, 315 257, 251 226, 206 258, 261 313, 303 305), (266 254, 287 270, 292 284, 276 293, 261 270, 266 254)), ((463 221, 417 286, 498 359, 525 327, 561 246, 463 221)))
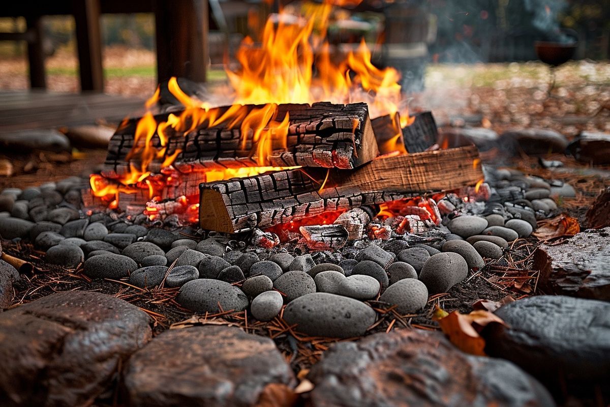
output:
POLYGON ((156 0, 157 77, 206 81, 207 0, 156 0))

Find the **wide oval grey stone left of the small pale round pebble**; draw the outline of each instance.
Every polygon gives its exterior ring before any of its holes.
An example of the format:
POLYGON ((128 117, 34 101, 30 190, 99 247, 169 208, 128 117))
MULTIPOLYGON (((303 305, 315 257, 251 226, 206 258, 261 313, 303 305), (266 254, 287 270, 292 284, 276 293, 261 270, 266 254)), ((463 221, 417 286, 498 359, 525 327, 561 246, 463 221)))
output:
POLYGON ((239 312, 248 307, 248 297, 242 290, 225 281, 209 278, 188 281, 180 288, 176 301, 199 314, 231 310, 239 312))

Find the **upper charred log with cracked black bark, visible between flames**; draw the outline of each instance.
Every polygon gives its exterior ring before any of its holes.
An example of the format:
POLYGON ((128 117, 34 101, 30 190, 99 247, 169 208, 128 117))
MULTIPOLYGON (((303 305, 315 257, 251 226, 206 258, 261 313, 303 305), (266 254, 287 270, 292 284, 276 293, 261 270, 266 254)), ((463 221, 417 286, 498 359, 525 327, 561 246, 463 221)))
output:
MULTIPOLYGON (((249 112, 256 107, 246 106, 249 112)), ((219 107, 219 116, 229 109, 219 107)), ((203 110, 202 110, 203 111, 203 110)), ((182 112, 174 112, 180 115, 182 112)), ((356 168, 378 156, 375 134, 368 117, 368 106, 365 103, 348 105, 331 103, 281 104, 278 105, 275 120, 281 122, 289 115, 289 132, 285 145, 275 142, 273 151, 267 157, 269 165, 274 167, 356 168)), ((156 115, 157 123, 168 120, 169 113, 156 115)), ((112 136, 108 155, 104 165, 104 175, 110 178, 129 171, 129 165, 140 166, 137 157, 129 157, 134 148, 134 133, 139 119, 132 119, 121 126, 112 136)), ((213 168, 256 167, 256 146, 253 146, 253 135, 246 135, 242 140, 237 121, 231 128, 228 123, 220 123, 213 128, 204 123, 193 131, 182 132, 166 129, 169 137, 167 149, 162 157, 157 157, 148 166, 148 170, 158 172, 161 164, 168 157, 176 154, 174 167, 182 173, 203 171, 213 168), (254 148, 253 148, 254 147, 254 148)), ((161 149, 161 140, 155 133, 152 145, 161 149)), ((137 148, 142 148, 145 140, 138 140, 137 148)))

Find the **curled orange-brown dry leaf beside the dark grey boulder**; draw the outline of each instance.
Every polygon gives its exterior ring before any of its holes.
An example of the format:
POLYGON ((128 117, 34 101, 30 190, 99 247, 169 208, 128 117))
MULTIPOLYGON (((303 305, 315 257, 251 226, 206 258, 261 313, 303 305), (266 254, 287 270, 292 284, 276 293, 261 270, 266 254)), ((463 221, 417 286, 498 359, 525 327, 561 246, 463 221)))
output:
POLYGON ((500 317, 489 311, 473 311, 470 314, 460 314, 453 311, 438 320, 440 329, 447 335, 452 344, 471 355, 486 356, 485 339, 479 332, 490 323, 506 324, 500 317))

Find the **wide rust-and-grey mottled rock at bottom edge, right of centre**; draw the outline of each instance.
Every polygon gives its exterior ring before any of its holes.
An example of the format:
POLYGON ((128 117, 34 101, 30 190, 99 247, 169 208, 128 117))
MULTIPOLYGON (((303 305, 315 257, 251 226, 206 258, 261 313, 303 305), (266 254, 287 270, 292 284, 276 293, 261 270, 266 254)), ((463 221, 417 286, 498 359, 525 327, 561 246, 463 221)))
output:
POLYGON ((307 378, 312 407, 554 406, 544 386, 511 362, 467 355, 442 333, 422 330, 339 342, 307 378))

